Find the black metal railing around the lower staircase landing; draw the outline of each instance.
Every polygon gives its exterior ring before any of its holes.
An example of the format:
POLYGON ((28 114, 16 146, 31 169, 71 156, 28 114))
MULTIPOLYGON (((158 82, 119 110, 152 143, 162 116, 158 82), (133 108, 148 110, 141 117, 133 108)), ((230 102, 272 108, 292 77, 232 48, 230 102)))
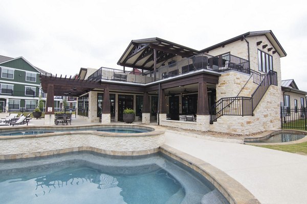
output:
POLYGON ((227 97, 218 100, 210 110, 210 122, 223 115, 246 116, 253 115, 251 97, 227 97))

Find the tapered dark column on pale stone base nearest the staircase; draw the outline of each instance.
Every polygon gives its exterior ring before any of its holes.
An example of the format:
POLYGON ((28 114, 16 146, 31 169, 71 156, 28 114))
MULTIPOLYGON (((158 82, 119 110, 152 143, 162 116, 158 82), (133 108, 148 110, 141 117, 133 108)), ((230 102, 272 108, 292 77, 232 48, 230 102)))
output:
POLYGON ((210 115, 206 82, 199 83, 196 123, 198 130, 209 130, 210 115))

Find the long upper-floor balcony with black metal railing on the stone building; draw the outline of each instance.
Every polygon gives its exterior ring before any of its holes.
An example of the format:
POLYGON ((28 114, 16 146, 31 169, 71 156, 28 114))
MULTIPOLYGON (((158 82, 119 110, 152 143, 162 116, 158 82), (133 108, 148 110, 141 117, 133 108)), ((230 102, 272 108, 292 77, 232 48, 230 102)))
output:
POLYGON ((144 73, 140 72, 138 69, 134 69, 135 71, 123 71, 101 67, 92 75, 90 75, 87 80, 110 80, 117 82, 147 84, 171 77, 176 77, 182 74, 192 73, 202 69, 216 72, 236 70, 243 73, 250 73, 248 60, 233 55, 222 55, 214 57, 201 53, 190 58, 185 58, 178 62, 173 62, 168 65, 161 66, 156 71, 147 71, 144 73))

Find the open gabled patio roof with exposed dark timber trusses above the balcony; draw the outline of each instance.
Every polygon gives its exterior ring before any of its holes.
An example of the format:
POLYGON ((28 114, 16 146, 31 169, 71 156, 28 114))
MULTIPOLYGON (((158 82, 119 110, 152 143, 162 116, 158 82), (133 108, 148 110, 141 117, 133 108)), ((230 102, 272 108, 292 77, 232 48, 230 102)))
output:
POLYGON ((157 50, 157 68, 175 56, 191 57, 199 53, 198 50, 161 38, 132 40, 117 64, 152 71, 153 49, 157 50))

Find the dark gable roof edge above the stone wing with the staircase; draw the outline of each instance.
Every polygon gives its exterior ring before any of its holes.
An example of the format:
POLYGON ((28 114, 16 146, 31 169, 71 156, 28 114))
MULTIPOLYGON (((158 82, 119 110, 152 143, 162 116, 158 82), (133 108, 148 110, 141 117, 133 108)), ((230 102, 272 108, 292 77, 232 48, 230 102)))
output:
POLYGON ((280 57, 286 57, 287 53, 284 51, 284 49, 282 48, 282 46, 280 45, 280 43, 278 42, 277 38, 275 37, 275 35, 273 34, 273 32, 271 30, 269 31, 251 31, 251 32, 247 32, 244 33, 242 35, 238 35, 234 38, 225 40, 223 42, 217 43, 215 45, 212 45, 210 47, 207 47, 205 49, 202 49, 200 52, 205 53, 207 51, 210 51, 212 49, 215 49, 217 47, 221 47, 223 45, 238 41, 240 39, 243 39, 243 37, 248 37, 248 36, 259 36, 259 35, 265 35, 269 41, 271 42, 271 44, 273 45, 273 47, 275 48, 275 50, 277 51, 277 53, 279 54, 280 57))

